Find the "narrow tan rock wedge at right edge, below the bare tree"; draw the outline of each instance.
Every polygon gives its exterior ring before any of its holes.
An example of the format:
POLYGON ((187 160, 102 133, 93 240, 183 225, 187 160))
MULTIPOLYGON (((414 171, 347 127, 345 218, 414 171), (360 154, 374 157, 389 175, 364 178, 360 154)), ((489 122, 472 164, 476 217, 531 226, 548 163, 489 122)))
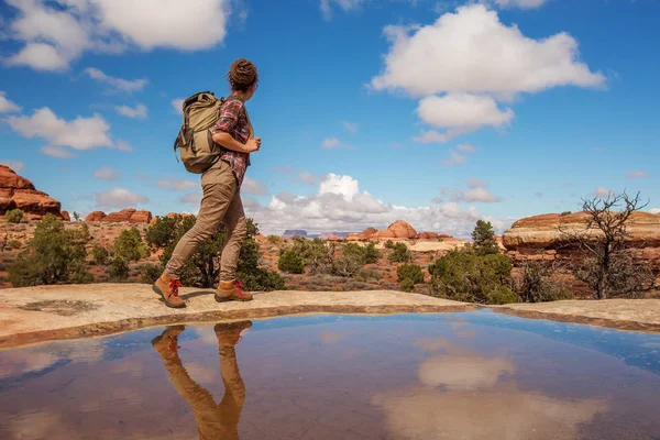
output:
POLYGON ((660 333, 660 299, 569 300, 491 308, 520 318, 660 333))

